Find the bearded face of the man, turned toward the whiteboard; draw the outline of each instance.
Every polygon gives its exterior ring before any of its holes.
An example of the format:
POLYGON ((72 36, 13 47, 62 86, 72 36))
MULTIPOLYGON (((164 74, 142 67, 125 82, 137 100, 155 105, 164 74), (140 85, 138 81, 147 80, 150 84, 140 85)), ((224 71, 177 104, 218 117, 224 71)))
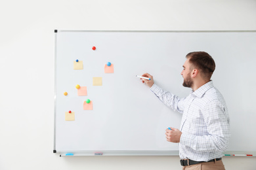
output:
POLYGON ((184 65, 182 66, 183 67, 183 70, 181 72, 181 75, 183 76, 184 78, 184 82, 183 82, 183 86, 186 87, 186 88, 191 88, 192 85, 193 85, 193 80, 191 78, 191 70, 190 70, 190 63, 188 61, 189 59, 186 59, 184 65))

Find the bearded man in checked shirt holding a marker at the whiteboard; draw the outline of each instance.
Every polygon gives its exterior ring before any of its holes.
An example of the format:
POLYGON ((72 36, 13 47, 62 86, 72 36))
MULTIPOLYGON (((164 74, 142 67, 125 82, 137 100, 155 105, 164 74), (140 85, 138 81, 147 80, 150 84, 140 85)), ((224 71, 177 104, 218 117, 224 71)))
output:
POLYGON ((179 98, 154 84, 145 73, 142 82, 168 107, 182 113, 181 131, 166 129, 166 139, 179 143, 182 169, 224 169, 221 160, 230 138, 228 109, 221 93, 213 86, 215 61, 206 52, 186 55, 181 75, 183 86, 192 88, 188 97, 179 98))

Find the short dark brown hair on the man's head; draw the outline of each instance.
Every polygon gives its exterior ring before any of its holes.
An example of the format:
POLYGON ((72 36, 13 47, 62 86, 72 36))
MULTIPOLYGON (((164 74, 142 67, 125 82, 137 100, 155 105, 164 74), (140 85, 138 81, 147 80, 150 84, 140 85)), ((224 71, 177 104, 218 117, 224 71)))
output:
POLYGON ((207 52, 190 52, 186 58, 192 64, 190 69, 199 69, 203 78, 211 78, 215 71, 215 61, 207 52))

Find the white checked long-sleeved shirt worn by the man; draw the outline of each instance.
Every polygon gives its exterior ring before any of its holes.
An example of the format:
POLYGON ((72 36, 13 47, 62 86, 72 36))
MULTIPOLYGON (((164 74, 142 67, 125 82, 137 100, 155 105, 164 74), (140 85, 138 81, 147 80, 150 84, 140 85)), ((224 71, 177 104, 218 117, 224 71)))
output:
POLYGON ((207 82, 185 98, 154 84, 150 90, 171 109, 182 113, 181 159, 209 161, 221 158, 230 139, 230 119, 221 93, 207 82))

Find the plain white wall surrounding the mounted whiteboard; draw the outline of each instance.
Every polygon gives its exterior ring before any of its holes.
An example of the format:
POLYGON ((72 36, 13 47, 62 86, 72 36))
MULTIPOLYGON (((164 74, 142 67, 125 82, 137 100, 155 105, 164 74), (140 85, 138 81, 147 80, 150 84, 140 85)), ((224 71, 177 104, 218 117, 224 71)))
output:
MULTIPOLYGON (((253 0, 1 1, 0 169, 181 169, 178 156, 53 154, 54 29, 256 30, 255 9, 253 0)), ((256 158, 223 161, 253 169, 256 158)))

